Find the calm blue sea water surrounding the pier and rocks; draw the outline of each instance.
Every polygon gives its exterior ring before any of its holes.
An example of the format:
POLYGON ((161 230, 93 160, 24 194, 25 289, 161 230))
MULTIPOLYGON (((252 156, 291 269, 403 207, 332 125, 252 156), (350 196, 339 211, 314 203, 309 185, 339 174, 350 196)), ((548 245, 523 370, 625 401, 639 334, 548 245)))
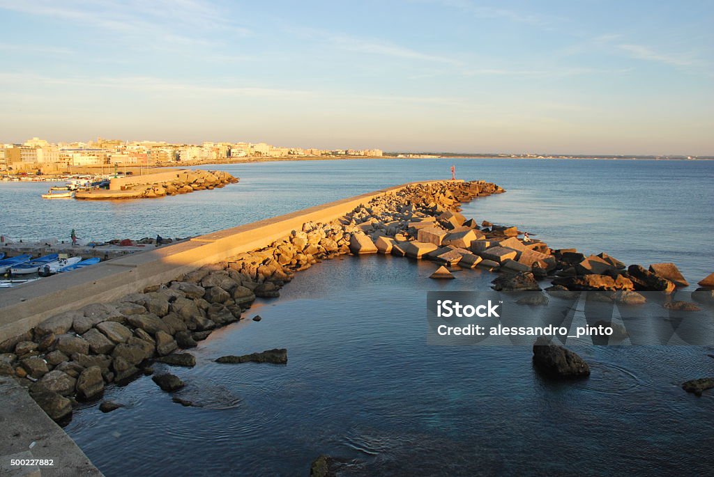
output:
MULTIPOLYGON (((224 166, 241 183, 222 190, 64 206, 26 192, 36 185, 0 184, 1 203, 26 204, 8 207, 0 230, 193 235, 447 177, 452 163, 462 178, 508 190, 466 205, 468 216, 519 225, 553 247, 674 261, 690 282, 714 271, 714 163, 704 162, 258 163, 224 166)), ((253 307, 261 322, 215 332, 193 351, 195 368, 171 368, 203 407, 175 404, 141 377, 106 391, 126 408, 85 406, 66 431, 110 477, 299 476, 321 453, 341 458, 345 476, 711 474, 714 395, 679 386, 714 375, 714 347, 584 348, 590 378, 553 382, 533 370, 527 347, 427 346, 426 292, 488 289, 493 279, 464 270, 435 282, 434 268, 381 256, 323 262, 253 307), (286 366, 213 362, 274 347, 288 349, 286 366)))

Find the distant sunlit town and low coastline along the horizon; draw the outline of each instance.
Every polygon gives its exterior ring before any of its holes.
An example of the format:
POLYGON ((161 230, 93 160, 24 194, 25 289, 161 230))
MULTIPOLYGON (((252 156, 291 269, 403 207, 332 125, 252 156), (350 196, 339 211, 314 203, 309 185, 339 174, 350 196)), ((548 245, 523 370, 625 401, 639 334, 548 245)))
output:
POLYGON ((267 143, 171 144, 164 141, 124 141, 96 138, 89 142, 49 143, 31 138, 21 144, 0 143, 1 174, 71 173, 73 168, 138 168, 231 163, 250 160, 317 158, 543 158, 543 159, 713 159, 688 155, 550 155, 503 153, 384 153, 380 149, 288 148, 267 143))

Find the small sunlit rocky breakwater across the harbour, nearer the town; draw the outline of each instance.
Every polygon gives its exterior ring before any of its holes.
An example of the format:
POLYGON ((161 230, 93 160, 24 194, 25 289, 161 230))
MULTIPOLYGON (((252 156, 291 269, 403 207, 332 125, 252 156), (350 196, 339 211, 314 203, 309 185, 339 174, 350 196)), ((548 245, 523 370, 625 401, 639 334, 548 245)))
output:
POLYGON ((131 175, 109 181, 109 189, 91 189, 75 193, 84 200, 159 198, 192 193, 196 190, 223 188, 238 183, 238 178, 220 170, 172 170, 166 173, 131 175))

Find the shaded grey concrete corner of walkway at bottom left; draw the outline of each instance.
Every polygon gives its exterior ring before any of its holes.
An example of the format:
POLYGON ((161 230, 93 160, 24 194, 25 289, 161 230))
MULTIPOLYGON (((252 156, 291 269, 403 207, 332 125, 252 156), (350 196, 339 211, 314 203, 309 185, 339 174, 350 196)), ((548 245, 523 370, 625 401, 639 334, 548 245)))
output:
POLYGON ((14 379, 0 376, 0 402, 0 476, 103 475, 14 379), (11 466, 11 459, 52 459, 54 466, 11 466))

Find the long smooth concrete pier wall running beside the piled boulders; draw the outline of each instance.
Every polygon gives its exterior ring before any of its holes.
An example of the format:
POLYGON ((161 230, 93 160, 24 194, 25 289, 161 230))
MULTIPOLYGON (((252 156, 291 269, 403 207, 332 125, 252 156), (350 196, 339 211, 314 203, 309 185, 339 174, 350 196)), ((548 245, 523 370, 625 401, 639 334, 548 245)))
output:
MULTIPOLYGON (((149 285, 169 282, 202 265, 266 247, 292 230, 301 230, 305 222, 329 222, 351 212, 358 205, 407 185, 410 184, 201 235, 168 247, 135 253, 69 274, 54 275, 2 290, 0 342, 26 332, 59 312, 90 303, 111 302, 125 294, 140 292, 149 285)), ((216 210, 216 213, 220 211, 216 210)))

